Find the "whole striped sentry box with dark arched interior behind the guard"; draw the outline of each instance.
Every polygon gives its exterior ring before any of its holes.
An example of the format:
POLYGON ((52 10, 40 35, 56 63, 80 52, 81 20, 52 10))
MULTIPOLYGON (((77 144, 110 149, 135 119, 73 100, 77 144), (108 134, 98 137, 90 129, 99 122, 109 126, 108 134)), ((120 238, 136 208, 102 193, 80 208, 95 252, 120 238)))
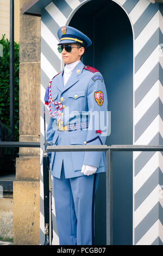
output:
MULTIPOLYGON (((93 41, 82 61, 101 71, 111 111, 108 145, 163 143, 163 4, 148 0, 36 0, 41 16, 41 155, 45 88, 63 68, 57 31, 72 26, 93 41)), ((48 123, 48 109, 46 109, 48 123)), ((162 245, 163 159, 160 151, 112 155, 113 244, 162 245)), ((44 238, 42 176, 40 243, 44 238)), ((96 194, 95 244, 106 244, 105 174, 96 194)), ((58 244, 53 199, 53 244, 58 244)))

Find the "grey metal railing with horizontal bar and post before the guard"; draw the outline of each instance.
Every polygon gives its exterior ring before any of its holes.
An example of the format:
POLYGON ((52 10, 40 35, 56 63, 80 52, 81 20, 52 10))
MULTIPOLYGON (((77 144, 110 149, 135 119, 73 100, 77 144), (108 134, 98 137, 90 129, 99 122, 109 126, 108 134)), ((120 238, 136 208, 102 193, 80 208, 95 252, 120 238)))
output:
MULTIPOLYGON (((39 142, 0 142, 0 147, 40 148, 39 142)), ((163 145, 48 145, 47 152, 104 151, 106 154, 106 245, 113 244, 112 152, 163 151, 163 145)))

